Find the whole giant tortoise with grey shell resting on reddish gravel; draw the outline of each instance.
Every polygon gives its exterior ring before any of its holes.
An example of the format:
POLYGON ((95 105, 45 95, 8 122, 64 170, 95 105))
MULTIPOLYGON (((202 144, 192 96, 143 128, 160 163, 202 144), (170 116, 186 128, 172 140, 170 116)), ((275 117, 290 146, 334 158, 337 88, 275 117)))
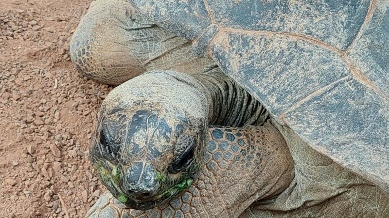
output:
POLYGON ((145 212, 106 194, 88 216, 388 217, 388 1, 130 2, 93 2, 71 58, 133 78, 90 157, 145 212))

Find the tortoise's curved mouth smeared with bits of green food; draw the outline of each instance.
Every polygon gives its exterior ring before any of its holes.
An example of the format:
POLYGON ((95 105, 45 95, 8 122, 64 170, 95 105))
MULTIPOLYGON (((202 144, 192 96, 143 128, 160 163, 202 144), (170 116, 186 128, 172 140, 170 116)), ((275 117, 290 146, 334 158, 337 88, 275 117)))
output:
POLYGON ((104 162, 105 163, 97 162, 93 164, 97 171, 97 176, 116 199, 131 209, 148 210, 154 208, 172 197, 177 196, 182 191, 187 190, 194 181, 194 178, 188 175, 181 177, 178 180, 179 182, 170 185, 167 183, 165 176, 159 175, 159 181, 164 183, 165 186, 161 186, 156 194, 147 197, 134 197, 120 188, 120 178, 123 175, 119 173, 120 171, 117 170, 117 167, 109 163, 109 161, 104 162))

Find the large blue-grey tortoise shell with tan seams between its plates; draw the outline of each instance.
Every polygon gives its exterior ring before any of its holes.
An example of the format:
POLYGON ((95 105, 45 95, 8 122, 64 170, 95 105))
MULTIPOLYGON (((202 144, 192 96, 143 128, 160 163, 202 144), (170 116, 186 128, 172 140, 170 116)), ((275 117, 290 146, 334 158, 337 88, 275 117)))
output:
POLYGON ((309 146, 389 192, 388 0, 129 0, 309 146))

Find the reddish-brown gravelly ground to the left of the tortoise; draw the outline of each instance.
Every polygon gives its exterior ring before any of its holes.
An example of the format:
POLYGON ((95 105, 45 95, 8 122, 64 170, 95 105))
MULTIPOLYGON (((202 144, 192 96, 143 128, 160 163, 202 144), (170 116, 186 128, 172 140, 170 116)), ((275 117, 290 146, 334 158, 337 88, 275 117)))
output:
POLYGON ((68 54, 89 1, 0 0, 0 218, 83 217, 104 191, 88 142, 112 87, 68 54))

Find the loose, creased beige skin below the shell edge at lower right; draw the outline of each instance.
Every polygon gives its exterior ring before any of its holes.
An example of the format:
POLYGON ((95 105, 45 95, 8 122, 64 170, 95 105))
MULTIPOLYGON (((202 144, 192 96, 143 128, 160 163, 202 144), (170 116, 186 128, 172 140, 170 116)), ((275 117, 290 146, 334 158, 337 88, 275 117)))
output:
MULTIPOLYGON (((295 162, 295 178, 277 198, 253 203, 241 218, 388 218, 389 196, 301 140, 283 134, 295 162)), ((363 155, 363 154, 361 154, 363 155)))

